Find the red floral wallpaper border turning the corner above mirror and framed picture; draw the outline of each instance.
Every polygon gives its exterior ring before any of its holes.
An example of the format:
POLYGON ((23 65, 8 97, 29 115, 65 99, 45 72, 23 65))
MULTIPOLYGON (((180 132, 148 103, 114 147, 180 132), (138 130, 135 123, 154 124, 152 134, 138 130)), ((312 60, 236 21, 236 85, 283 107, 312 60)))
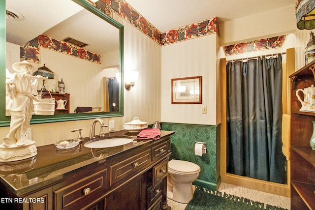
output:
POLYGON ((161 46, 212 33, 219 34, 219 22, 216 17, 161 33, 125 0, 98 0, 93 5, 110 17, 112 12, 115 12, 161 46))

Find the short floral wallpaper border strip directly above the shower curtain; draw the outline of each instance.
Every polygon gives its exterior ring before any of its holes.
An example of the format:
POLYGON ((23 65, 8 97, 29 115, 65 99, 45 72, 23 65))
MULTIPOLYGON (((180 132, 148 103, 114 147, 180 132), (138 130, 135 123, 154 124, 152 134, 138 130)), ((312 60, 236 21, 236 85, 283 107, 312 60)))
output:
POLYGON ((287 35, 275 36, 272 38, 265 38, 246 43, 238 43, 224 47, 226 56, 237 55, 242 53, 251 53, 261 50, 269 50, 274 48, 281 48, 287 35))

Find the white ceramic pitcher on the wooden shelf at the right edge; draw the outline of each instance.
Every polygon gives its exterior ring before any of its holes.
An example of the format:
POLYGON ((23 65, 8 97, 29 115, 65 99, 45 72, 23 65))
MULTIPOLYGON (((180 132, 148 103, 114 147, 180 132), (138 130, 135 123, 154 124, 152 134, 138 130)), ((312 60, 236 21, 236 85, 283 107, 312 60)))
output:
POLYGON ((300 111, 308 111, 308 112, 315 112, 315 87, 312 85, 311 87, 296 90, 295 95, 297 99, 301 102, 301 109, 300 111), (304 100, 302 101, 299 92, 302 91, 304 94, 304 100))

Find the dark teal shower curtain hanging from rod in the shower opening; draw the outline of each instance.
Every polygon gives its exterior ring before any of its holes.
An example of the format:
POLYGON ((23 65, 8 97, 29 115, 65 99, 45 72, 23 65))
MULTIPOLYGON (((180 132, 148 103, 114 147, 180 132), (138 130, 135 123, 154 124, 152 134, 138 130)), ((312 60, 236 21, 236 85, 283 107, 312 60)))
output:
POLYGON ((286 183, 282 58, 227 62, 227 172, 286 183))

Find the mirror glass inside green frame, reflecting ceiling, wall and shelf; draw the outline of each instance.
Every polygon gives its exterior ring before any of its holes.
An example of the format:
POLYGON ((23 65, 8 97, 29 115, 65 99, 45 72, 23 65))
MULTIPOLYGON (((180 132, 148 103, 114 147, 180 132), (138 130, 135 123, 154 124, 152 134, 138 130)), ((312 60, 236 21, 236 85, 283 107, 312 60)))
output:
POLYGON ((6 78, 27 60, 48 77, 37 91, 56 99, 55 115, 119 112, 120 29, 73 1, 46 1, 6 0, 6 78))

